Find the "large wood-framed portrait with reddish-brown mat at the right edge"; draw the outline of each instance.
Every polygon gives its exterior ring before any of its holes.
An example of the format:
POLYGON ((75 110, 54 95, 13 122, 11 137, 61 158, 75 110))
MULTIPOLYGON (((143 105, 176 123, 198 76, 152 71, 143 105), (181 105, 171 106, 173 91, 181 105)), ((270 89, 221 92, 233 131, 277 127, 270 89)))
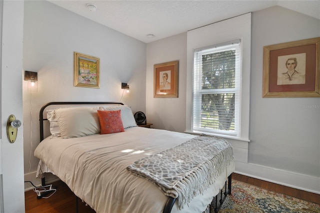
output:
POLYGON ((263 47, 262 97, 320 97, 320 37, 263 47))

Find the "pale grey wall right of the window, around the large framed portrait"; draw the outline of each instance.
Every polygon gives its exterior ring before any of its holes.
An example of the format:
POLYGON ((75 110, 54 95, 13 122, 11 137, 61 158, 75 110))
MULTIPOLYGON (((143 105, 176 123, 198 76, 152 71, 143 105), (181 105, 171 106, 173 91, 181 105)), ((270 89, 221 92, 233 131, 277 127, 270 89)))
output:
POLYGON ((248 160, 252 164, 303 174, 305 178, 317 177, 315 183, 319 191, 320 98, 262 98, 261 82, 263 46, 319 37, 320 20, 275 6, 253 12, 251 30, 248 160), (304 108, 305 105, 318 107, 304 108))

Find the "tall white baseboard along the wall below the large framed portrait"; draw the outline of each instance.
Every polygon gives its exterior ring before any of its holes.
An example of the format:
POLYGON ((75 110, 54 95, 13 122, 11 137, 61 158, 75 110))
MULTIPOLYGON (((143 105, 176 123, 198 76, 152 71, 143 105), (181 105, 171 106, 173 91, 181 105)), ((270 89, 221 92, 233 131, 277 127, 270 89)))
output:
POLYGON ((235 162, 235 173, 320 194, 320 177, 239 161, 235 162))

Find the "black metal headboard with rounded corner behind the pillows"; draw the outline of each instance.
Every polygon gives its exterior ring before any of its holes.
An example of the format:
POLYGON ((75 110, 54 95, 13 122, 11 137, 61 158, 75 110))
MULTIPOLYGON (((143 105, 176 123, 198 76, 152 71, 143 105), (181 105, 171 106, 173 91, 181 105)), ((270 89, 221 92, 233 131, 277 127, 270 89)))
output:
POLYGON ((89 104, 120 104, 124 105, 121 102, 48 102, 44 104, 39 112, 39 122, 40 122, 40 142, 44 139, 43 134, 43 120, 47 120, 46 118, 43 118, 43 111, 44 109, 49 105, 73 105, 73 104, 83 104, 83 105, 89 105, 89 104))

